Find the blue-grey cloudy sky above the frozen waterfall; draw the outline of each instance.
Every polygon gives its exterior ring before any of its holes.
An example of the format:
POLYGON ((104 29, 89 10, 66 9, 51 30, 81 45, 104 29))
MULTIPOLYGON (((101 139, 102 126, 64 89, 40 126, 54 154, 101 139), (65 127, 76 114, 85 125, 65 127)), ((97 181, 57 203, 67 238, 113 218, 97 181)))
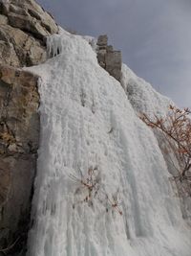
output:
POLYGON ((191 107, 191 0, 37 1, 63 28, 107 34, 139 77, 191 107))

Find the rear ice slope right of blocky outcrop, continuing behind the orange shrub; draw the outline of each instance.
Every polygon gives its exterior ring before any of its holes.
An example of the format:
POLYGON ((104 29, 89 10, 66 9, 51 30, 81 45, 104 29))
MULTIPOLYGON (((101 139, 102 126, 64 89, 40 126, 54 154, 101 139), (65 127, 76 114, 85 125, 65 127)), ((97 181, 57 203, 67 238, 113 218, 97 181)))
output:
MULTIPOLYGON (((170 99, 161 96, 154 90, 151 84, 138 78, 125 64, 122 65, 121 85, 138 115, 145 113, 150 116, 151 119, 156 119, 154 115, 165 118, 166 113, 169 111, 169 105, 175 105, 170 99)), ((172 175, 179 175, 179 162, 175 157, 174 151, 169 148, 169 144, 166 142, 166 137, 159 130, 154 130, 154 132, 159 141, 159 146, 164 155, 169 173, 172 175), (165 149, 168 149, 168 154, 166 154, 165 149)), ((175 182, 173 182, 172 185, 175 187, 175 182)), ((191 198, 187 197, 187 195, 181 197, 180 205, 183 218, 190 224, 191 198)))

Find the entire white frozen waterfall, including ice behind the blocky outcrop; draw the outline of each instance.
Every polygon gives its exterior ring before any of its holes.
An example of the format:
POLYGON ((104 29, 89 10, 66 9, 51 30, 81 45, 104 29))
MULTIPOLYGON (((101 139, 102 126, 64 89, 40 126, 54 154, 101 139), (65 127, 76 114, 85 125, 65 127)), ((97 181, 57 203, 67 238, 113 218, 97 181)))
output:
POLYGON ((134 110, 162 113, 170 100, 140 79, 144 93, 127 97, 135 75, 123 66, 123 89, 79 35, 53 35, 49 49, 61 54, 30 68, 42 80, 28 255, 190 256, 191 232, 158 141, 134 110), (97 189, 87 202, 80 179, 94 169, 97 189))

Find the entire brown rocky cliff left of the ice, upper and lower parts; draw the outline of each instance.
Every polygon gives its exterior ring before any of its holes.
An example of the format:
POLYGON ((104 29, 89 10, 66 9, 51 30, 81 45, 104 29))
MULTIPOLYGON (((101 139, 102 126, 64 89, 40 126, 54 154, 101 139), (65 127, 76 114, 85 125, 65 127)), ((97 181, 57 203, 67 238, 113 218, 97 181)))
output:
POLYGON ((57 31, 33 0, 0 1, 0 255, 25 247, 36 170, 39 78, 19 67, 44 62, 57 31))

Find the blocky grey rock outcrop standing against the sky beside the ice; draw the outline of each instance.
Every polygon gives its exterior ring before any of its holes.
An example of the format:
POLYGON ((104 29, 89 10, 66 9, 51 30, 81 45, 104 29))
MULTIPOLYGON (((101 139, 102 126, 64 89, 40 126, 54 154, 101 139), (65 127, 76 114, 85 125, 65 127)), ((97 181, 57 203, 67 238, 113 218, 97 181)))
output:
POLYGON ((108 46, 107 35, 99 35, 96 44, 99 65, 117 81, 120 81, 122 65, 121 52, 115 51, 112 45, 108 46))

